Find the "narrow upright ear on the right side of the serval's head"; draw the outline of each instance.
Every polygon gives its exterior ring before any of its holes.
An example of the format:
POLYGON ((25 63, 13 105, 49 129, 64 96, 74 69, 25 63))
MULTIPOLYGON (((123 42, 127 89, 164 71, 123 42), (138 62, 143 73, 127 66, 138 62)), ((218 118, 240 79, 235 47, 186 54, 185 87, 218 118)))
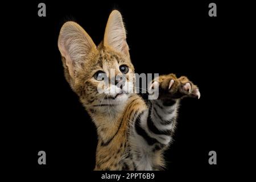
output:
POLYGON ((126 56, 129 56, 125 26, 123 25, 122 15, 117 10, 112 11, 109 15, 104 34, 104 46, 110 46, 115 50, 124 53, 126 56))

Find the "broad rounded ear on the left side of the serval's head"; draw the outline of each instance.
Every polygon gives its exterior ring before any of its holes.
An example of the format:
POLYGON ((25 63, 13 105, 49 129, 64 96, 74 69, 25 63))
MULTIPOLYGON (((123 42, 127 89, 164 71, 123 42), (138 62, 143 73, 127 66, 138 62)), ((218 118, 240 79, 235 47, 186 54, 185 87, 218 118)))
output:
POLYGON ((58 47, 72 78, 76 69, 86 60, 89 53, 96 49, 90 36, 75 22, 66 22, 61 27, 58 47))

